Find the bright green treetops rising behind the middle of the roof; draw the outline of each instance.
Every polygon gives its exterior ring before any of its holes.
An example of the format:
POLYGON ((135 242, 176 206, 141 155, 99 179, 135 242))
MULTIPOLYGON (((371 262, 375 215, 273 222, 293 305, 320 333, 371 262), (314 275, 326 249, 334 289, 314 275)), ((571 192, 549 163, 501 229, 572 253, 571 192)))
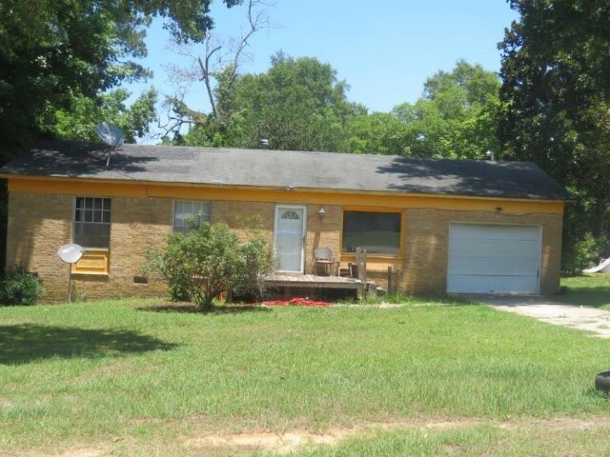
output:
POLYGON ((497 149, 500 80, 480 65, 460 61, 450 73, 429 78, 415 104, 372 114, 349 102, 346 82, 315 58, 279 52, 266 73, 240 75, 230 84, 223 74, 217 79, 218 117, 176 104, 198 120, 176 143, 259 147, 267 138, 274 149, 453 158, 484 158, 497 149))

